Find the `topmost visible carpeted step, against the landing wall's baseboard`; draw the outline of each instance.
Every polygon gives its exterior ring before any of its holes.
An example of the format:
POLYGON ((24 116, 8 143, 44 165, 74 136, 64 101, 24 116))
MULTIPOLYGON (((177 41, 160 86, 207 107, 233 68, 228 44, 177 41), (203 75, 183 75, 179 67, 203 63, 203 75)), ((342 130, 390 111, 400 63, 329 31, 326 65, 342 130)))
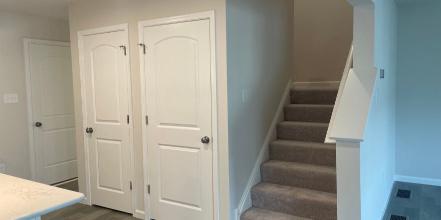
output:
POLYGON ((291 104, 334 104, 338 87, 304 87, 290 91, 291 104))

